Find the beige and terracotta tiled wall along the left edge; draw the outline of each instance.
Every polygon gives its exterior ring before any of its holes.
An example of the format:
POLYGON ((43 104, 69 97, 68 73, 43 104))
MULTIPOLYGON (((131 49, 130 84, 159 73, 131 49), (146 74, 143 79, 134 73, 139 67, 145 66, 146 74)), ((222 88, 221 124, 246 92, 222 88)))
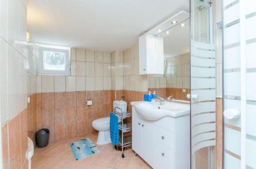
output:
POLYGON ((30 95, 27 66, 31 55, 29 47, 20 43, 26 42, 26 1, 1 1, 0 18, 0 151, 3 150, 3 168, 28 168, 25 158, 27 137, 33 135, 28 134, 27 108, 27 96, 30 95))

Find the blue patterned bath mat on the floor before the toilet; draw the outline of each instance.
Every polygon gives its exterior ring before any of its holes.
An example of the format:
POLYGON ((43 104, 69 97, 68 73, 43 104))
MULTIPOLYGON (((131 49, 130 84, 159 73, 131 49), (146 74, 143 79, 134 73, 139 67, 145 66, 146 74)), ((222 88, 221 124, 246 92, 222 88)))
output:
POLYGON ((86 158, 90 155, 99 153, 99 150, 91 142, 90 138, 80 139, 70 143, 71 150, 76 160, 86 158))

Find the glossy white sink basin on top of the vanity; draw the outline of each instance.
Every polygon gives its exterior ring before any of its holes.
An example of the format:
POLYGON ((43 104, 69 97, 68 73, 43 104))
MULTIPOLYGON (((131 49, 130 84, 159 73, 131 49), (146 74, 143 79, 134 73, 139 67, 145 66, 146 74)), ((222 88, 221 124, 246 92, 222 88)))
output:
POLYGON ((189 104, 165 101, 164 105, 159 102, 137 101, 131 102, 139 116, 145 120, 157 121, 164 117, 177 118, 189 114, 189 104))

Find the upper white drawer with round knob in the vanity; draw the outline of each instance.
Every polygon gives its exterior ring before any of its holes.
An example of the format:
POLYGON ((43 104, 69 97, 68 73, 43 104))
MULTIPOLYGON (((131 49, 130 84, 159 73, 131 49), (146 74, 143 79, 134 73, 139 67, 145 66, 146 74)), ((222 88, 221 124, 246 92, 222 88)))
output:
POLYGON ((156 140, 158 143, 175 151, 175 133, 156 127, 156 140))

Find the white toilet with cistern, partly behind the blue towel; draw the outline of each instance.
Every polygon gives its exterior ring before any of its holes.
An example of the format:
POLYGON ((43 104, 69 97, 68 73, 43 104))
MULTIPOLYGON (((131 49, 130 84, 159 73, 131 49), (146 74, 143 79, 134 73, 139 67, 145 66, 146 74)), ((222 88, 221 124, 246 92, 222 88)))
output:
MULTIPOLYGON (((127 111, 127 103, 123 100, 115 100, 113 102, 113 108, 119 107, 123 112, 127 111)), ((117 109, 117 111, 120 111, 117 109)), ((121 118, 119 118, 118 123, 121 122, 121 118)), ((92 126, 95 130, 99 131, 97 145, 104 145, 111 143, 110 139, 110 118, 100 118, 93 121, 92 126)))

